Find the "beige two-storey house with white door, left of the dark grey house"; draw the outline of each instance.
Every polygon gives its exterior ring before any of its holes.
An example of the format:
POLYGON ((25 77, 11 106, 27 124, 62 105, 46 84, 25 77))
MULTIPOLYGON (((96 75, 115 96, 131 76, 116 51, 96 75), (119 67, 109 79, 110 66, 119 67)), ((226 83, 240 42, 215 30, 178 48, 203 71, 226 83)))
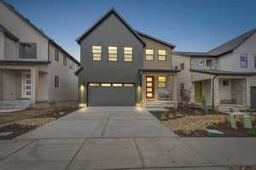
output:
POLYGON ((0 107, 73 105, 79 61, 0 1, 0 107))

